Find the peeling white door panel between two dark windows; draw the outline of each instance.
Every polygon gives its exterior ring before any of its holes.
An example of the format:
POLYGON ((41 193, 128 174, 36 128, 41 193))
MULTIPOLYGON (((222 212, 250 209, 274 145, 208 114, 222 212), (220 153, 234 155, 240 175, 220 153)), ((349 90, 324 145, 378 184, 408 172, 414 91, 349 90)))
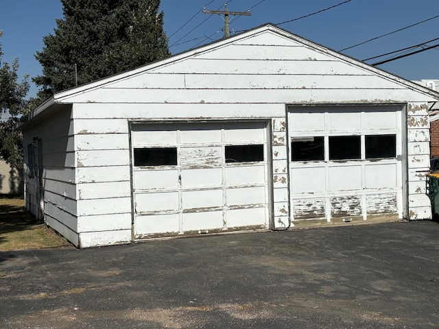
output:
POLYGON ((181 147, 178 156, 182 167, 217 167, 222 164, 221 147, 181 147))

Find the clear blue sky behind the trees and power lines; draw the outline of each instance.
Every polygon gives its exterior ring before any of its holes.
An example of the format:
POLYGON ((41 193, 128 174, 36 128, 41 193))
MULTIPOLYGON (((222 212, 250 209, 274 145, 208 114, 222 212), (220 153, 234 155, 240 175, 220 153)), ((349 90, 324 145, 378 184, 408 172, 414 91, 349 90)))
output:
MULTIPOLYGON (((171 53, 180 53, 218 40, 224 35, 222 16, 203 14, 204 6, 207 10, 224 10, 224 3, 227 2, 230 11, 246 12, 251 8, 252 16, 230 16, 230 32, 234 34, 265 23, 277 24, 297 19, 344 1, 162 0, 161 9, 165 12, 165 32, 169 37, 171 53)), ((438 15, 438 0, 351 0, 331 10, 278 26, 340 51, 438 15)), ((21 76, 25 73, 31 77, 39 75, 41 66, 34 54, 43 49, 43 36, 53 33, 55 20, 61 18, 62 5, 58 0, 2 1, 0 29, 3 30, 3 37, 0 42, 4 53, 3 62, 19 58, 21 76)), ((438 27, 439 17, 342 53, 364 60, 439 38, 438 27)), ((439 40, 427 45, 437 44, 439 40)), ((421 48, 413 50, 418 49, 421 48)), ((389 56, 377 61, 386 58, 389 56)), ((439 47, 378 67, 408 80, 439 79, 439 47)), ((33 96, 36 90, 32 86, 29 95, 33 96)))

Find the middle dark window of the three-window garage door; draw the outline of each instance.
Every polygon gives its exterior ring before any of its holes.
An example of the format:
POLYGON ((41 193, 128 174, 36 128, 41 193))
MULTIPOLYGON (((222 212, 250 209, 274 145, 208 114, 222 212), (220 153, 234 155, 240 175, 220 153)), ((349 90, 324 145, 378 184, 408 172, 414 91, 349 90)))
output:
POLYGON ((361 158, 360 136, 330 136, 329 160, 353 160, 361 158))

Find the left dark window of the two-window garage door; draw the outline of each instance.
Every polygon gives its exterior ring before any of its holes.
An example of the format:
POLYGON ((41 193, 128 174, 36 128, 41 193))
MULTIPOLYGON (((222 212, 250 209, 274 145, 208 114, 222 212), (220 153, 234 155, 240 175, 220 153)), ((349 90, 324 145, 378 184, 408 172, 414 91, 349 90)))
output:
POLYGON ((134 166, 175 166, 177 148, 134 149, 134 166))

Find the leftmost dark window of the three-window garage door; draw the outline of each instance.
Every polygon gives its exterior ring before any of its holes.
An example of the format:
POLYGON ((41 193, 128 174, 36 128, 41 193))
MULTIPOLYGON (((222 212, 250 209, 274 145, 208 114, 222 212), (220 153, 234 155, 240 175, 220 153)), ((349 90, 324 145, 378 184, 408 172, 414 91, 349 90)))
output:
POLYGON ((324 160, 324 138, 293 138, 291 142, 293 161, 324 160))

